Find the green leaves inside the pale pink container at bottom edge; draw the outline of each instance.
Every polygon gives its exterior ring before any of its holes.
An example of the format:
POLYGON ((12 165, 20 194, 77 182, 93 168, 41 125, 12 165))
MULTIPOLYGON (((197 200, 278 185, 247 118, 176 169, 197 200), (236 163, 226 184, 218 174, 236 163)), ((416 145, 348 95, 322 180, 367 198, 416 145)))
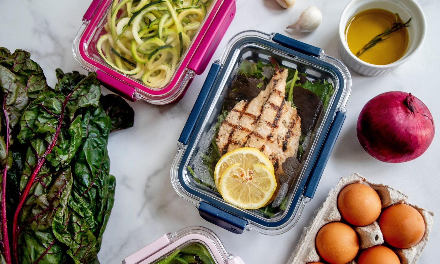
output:
POLYGON ((191 243, 181 249, 177 249, 168 257, 154 264, 216 264, 208 249, 201 243, 191 243))

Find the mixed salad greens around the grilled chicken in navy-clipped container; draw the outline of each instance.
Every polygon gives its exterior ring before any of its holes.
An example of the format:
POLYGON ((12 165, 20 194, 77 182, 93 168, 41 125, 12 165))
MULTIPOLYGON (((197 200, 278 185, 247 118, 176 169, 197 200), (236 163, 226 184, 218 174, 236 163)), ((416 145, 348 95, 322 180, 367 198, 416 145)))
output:
MULTIPOLYGON (((223 109, 217 117, 216 125, 213 128, 215 133, 210 146, 213 151, 204 157, 207 160, 206 166, 211 176, 214 175, 213 171, 217 161, 221 158, 220 151, 215 142, 221 123, 238 102, 241 100, 250 101, 257 97, 266 88, 275 71, 279 68, 279 64, 273 58, 271 58, 271 63, 263 63, 261 60, 258 62, 243 60, 241 62, 237 78, 232 81, 227 91, 223 109)), ((297 113, 301 117, 301 136, 297 156, 288 158, 282 164, 282 169, 286 176, 280 176, 279 180, 281 185, 286 184, 286 188, 290 187, 295 180, 297 170, 300 167, 304 151, 306 150, 305 147, 308 144, 308 139, 310 139, 319 114, 322 110, 326 109, 333 93, 333 85, 326 80, 311 81, 306 77, 306 73, 288 68, 285 100, 297 109, 297 113)), ((191 174, 194 175, 193 172, 191 174)), ((194 177, 194 179, 196 178, 194 177)), ((216 190, 215 186, 209 187, 216 190)), ((279 209, 286 209, 286 200, 286 191, 279 192, 275 201, 264 208, 260 208, 259 212, 264 216, 273 216, 279 209)))

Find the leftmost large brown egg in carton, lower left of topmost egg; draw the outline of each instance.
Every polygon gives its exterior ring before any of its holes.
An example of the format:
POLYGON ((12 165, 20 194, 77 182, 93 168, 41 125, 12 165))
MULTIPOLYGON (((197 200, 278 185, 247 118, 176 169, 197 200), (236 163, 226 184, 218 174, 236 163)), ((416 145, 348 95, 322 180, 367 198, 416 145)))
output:
POLYGON ((359 250, 356 232, 340 222, 321 227, 315 242, 319 256, 330 264, 345 264, 354 259, 359 250))

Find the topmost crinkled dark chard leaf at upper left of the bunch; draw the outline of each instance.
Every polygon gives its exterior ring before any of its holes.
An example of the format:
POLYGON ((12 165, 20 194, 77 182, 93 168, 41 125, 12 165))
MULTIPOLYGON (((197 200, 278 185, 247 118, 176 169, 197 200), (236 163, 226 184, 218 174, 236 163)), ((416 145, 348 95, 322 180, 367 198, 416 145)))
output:
MULTIPOLYGON (((1 53, 6 54, 7 51, 1 53)), ((36 62, 30 59, 30 53, 27 51, 16 50, 3 61, 0 61, 0 65, 15 73, 30 99, 35 99, 40 92, 50 89, 43 70, 36 62)))

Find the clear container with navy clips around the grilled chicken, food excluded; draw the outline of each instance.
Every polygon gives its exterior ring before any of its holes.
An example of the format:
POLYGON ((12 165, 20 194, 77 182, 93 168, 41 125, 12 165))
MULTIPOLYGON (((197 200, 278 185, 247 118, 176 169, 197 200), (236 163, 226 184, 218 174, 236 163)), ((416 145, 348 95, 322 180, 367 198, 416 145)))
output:
POLYGON ((188 117, 178 142, 178 151, 171 168, 172 185, 180 196, 193 202, 200 215, 209 222, 234 233, 255 230, 268 235, 282 234, 296 224, 304 205, 315 193, 322 172, 345 120, 345 104, 351 90, 348 69, 339 60, 327 56, 320 48, 293 40, 279 33, 245 31, 233 37, 220 59, 211 66, 201 92, 188 117), (228 88, 237 79, 243 61, 297 69, 310 81, 332 84, 333 94, 323 110, 317 111, 315 125, 308 134, 308 144, 300 158, 293 183, 290 183, 284 204, 265 214, 261 210, 238 208, 226 202, 209 184, 197 177, 209 168, 206 163, 214 151, 209 147, 213 125, 222 113, 228 88), (194 175, 195 174, 195 175, 194 175), (281 209, 280 209, 281 208, 281 209))

